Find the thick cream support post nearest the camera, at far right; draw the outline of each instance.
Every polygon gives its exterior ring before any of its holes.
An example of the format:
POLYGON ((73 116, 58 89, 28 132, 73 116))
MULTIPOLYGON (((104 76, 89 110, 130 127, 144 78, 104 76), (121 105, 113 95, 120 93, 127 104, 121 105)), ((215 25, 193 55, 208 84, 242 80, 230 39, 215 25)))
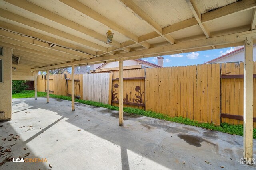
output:
POLYGON ((244 158, 246 164, 252 164, 253 134, 253 41, 247 37, 244 41, 244 158))

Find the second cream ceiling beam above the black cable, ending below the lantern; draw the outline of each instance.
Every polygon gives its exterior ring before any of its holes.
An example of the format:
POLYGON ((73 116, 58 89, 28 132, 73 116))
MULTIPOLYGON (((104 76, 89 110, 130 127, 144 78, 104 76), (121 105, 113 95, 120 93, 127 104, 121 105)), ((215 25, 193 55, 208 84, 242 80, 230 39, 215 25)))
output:
MULTIPOLYGON (((49 27, 47 25, 44 25, 42 23, 39 23, 39 22, 36 22, 36 21, 33 21, 33 20, 30 20, 28 18, 24 18, 22 16, 19 16, 17 14, 14 14, 12 12, 9 12, 9 11, 6 11, 6 10, 3 10, 3 9, 0 9, 0 16, 3 17, 3 18, 6 18, 8 20, 12 20, 12 21, 15 21, 15 22, 18 22, 18 23, 21 23, 23 25, 27 25, 27 26, 30 26, 30 27, 33 27, 35 29, 39 29, 41 31, 46 31, 48 33, 51 33, 53 35, 57 35, 58 37, 63 37, 65 39, 68 39, 70 41, 74 41, 76 43, 80 43, 81 45, 85 45, 87 47, 90 47, 90 48, 93 48, 95 49, 96 51, 104 51, 104 52, 107 52, 107 48, 106 47, 103 47, 101 45, 98 45, 96 43, 92 43, 90 41, 87 41, 85 39, 82 39, 80 37, 76 37, 74 35, 71 35, 69 33, 66 33, 66 32, 63 32, 63 31, 60 31, 58 29, 55 29, 55 28, 52 28, 52 27, 49 27)), ((90 54, 90 49, 87 49, 86 50, 86 53, 89 53, 90 54)))

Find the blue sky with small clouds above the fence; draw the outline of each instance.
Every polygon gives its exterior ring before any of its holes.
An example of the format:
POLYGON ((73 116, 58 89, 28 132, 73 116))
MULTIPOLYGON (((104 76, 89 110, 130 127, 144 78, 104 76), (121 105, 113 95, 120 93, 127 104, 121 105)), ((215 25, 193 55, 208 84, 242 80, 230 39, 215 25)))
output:
MULTIPOLYGON (((164 67, 172 66, 188 66, 203 64, 204 62, 210 61, 231 51, 234 51, 234 47, 224 49, 213 49, 207 51, 196 51, 192 53, 180 53, 174 55, 164 55, 164 67)), ((157 64, 157 57, 144 58, 142 60, 149 61, 157 64)))

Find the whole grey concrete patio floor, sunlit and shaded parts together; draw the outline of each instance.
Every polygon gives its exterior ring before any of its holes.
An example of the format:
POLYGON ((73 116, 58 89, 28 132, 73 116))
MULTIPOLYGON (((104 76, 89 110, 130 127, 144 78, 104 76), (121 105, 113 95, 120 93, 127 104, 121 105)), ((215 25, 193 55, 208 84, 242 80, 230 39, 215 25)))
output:
POLYGON ((10 148, 11 152, 5 152, 8 155, 2 155, 0 162, 28 152, 26 158, 46 158, 47 162, 6 162, 0 169, 255 168, 240 165, 241 136, 128 113, 119 127, 118 111, 76 103, 72 112, 70 101, 54 98, 50 104, 46 98, 13 99, 12 107, 12 120, 0 122, 1 150, 10 148), (15 135, 19 135, 16 141, 8 140, 15 135))

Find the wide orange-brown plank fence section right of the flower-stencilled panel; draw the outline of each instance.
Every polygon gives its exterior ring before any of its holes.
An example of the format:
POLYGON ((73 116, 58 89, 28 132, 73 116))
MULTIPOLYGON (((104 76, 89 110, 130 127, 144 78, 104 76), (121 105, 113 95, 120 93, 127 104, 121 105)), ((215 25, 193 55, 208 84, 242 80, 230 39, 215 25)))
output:
POLYGON ((220 124, 220 64, 146 69, 146 110, 220 124))

